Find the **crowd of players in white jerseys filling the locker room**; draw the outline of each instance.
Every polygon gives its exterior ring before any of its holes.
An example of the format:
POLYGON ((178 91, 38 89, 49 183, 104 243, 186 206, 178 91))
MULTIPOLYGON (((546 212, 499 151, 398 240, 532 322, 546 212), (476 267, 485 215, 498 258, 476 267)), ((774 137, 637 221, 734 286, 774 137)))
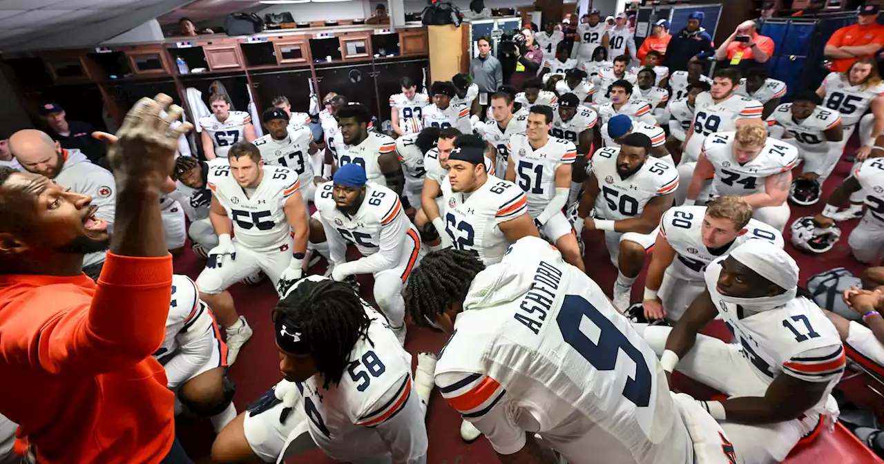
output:
MULTIPOLYGON (((858 60, 780 104, 785 85, 763 72, 710 79, 692 62, 670 74, 656 51, 628 70, 622 50, 605 61, 612 43, 591 52, 597 72, 557 55, 484 114, 469 76, 429 95, 404 78, 392 136, 330 94, 321 139, 284 96, 255 138, 247 113, 210 96, 205 161, 179 156, 161 204, 172 254, 187 217, 206 266, 195 281, 175 276, 155 356, 181 407, 211 418, 214 461, 318 446, 345 462, 423 462, 434 386, 463 415, 461 436, 484 433, 503 462, 547 462, 550 449, 574 464, 779 462, 831 426, 842 340, 882 364, 884 349, 805 298, 782 232, 789 198, 818 200, 858 130, 852 176, 792 238, 825 251, 834 221, 865 204, 850 247, 862 262, 884 257, 884 163, 869 157, 884 155, 876 65, 858 60), (618 270, 611 300, 584 268, 592 230, 618 270), (324 276, 309 275, 323 259, 324 276), (354 292, 363 274, 374 306, 354 292), (252 331, 228 288, 264 276, 285 378, 238 415, 225 369, 252 331), (734 344, 698 335, 718 316, 734 344), (414 373, 407 320, 451 334, 414 373), (674 370, 727 399, 670 392, 674 370)), ((9 149, 20 169, 91 194, 95 221, 112 225, 110 172, 38 131, 13 134, 9 149)), ((89 255, 84 270, 97 276, 102 261, 89 255)), ((849 300, 881 322, 880 293, 849 300)))

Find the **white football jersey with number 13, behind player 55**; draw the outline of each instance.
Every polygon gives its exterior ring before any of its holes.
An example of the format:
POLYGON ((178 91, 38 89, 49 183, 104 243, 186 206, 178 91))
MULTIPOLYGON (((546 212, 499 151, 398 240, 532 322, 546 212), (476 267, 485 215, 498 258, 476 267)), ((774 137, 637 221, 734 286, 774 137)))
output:
POLYGON ((283 166, 298 174, 301 188, 313 183, 313 164, 310 164, 310 143, 313 131, 308 126, 289 127, 286 138, 278 141, 270 133, 255 140, 264 164, 283 166))

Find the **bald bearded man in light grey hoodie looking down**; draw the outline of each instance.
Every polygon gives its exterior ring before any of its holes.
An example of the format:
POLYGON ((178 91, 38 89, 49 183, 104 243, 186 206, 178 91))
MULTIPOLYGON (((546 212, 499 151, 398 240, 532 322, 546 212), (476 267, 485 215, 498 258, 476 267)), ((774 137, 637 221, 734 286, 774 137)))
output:
MULTIPOLYGON (((92 206, 98 208, 95 217, 107 221, 112 231, 117 184, 110 171, 92 164, 80 150, 61 148, 47 133, 34 129, 13 133, 9 149, 26 171, 52 179, 72 192, 91 195, 92 206)), ((104 252, 85 255, 83 272, 98 278, 103 263, 104 252)))

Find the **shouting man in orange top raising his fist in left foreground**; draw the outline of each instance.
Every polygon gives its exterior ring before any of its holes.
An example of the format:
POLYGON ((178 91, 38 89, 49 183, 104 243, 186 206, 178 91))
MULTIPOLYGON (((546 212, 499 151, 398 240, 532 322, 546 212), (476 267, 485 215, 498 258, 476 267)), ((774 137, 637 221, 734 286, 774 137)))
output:
POLYGON ((118 189, 110 239, 88 195, 0 167, 0 414, 41 463, 190 463, 151 356, 171 298, 160 187, 191 127, 169 130, 181 116, 170 104, 141 99, 118 140, 103 135, 118 189), (96 285, 83 255, 109 241, 96 285))

